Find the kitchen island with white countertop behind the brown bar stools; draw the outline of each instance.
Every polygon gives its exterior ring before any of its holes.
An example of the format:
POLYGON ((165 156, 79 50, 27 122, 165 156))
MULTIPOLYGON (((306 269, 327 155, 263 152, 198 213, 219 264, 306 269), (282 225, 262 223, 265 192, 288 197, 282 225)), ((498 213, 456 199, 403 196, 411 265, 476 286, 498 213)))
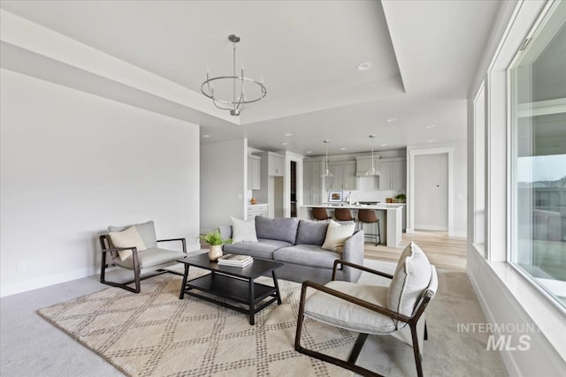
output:
POLYGON ((387 247, 400 247, 402 241, 402 217, 403 203, 378 203, 372 205, 355 205, 348 203, 323 203, 318 206, 302 206, 300 217, 312 219, 312 208, 326 208, 328 215, 333 215, 335 208, 347 208, 352 211, 352 216, 357 217, 358 209, 375 209, 379 222, 382 223, 381 243, 387 247))

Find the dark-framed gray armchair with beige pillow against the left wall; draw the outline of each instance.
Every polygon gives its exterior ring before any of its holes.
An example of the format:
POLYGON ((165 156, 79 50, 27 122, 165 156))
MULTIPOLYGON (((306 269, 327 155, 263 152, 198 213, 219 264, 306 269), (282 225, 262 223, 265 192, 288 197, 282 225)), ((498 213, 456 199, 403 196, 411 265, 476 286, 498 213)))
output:
POLYGON ((158 240, 152 221, 122 227, 110 226, 108 234, 100 236, 100 245, 103 252, 100 283, 139 293, 140 282, 143 279, 164 273, 183 275, 164 268, 176 264, 178 259, 187 256, 185 238, 158 240), (158 243, 164 242, 180 242, 182 252, 157 247, 158 243), (134 279, 124 283, 106 280, 106 268, 111 265, 132 270, 134 279), (134 283, 134 287, 129 286, 131 283, 134 283))

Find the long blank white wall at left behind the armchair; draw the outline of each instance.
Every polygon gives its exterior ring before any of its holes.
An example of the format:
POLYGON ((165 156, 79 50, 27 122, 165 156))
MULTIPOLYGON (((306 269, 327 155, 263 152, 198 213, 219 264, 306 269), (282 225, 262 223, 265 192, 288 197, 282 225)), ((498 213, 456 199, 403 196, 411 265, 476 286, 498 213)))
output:
POLYGON ((0 74, 2 296, 97 273, 111 224, 194 243, 197 125, 0 74))

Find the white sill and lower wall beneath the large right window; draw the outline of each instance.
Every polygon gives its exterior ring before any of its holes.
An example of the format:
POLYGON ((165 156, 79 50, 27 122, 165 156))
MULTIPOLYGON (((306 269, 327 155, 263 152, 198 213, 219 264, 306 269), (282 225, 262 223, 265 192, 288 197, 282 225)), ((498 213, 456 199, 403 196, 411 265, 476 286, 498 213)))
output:
MULTIPOLYGON (((509 375, 562 375, 566 341, 559 331, 563 316, 542 298, 515 268, 506 262, 489 262, 473 245, 468 247, 467 275, 486 315, 493 324, 535 324, 527 351, 500 351, 509 375), (544 310, 541 310, 544 308, 544 310)), ((494 334, 499 336, 500 334, 494 334)), ((518 336, 518 335, 516 335, 518 336)))

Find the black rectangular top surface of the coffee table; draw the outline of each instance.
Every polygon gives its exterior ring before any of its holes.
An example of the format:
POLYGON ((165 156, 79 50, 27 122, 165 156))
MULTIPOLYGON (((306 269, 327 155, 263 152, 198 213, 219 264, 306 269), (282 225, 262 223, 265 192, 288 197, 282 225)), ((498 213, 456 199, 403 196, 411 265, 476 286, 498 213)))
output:
POLYGON ((253 263, 250 263, 248 266, 245 266, 243 268, 218 265, 217 261, 212 261, 209 259, 208 253, 181 258, 177 261, 189 266, 204 268, 210 271, 223 272, 227 275, 239 276, 247 279, 265 275, 274 269, 283 267, 283 263, 281 262, 276 262, 273 260, 262 260, 259 258, 254 258, 253 263))

